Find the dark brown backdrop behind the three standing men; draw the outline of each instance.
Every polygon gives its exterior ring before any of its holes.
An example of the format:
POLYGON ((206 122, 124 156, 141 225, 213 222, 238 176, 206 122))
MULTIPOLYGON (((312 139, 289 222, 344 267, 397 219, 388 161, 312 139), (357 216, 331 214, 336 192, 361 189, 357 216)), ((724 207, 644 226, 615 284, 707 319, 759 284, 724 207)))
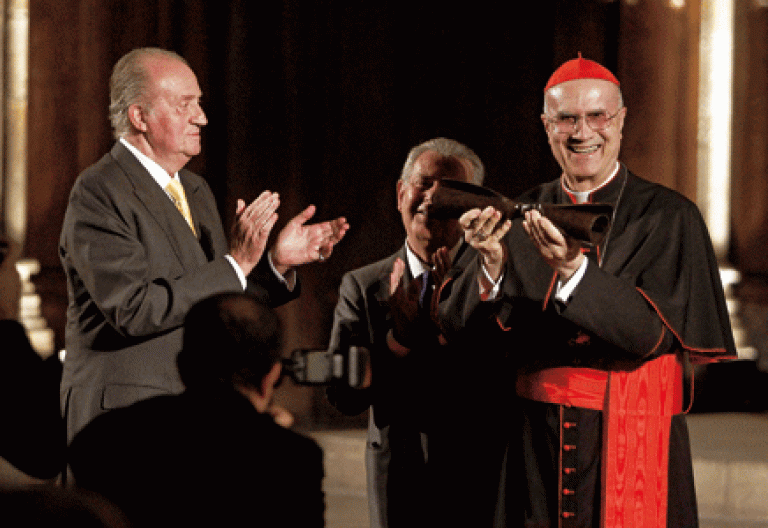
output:
MULTIPOLYGON (((737 4, 729 260, 762 300, 768 10, 737 4)), ((226 225, 237 198, 264 189, 282 196, 275 233, 310 203, 317 219, 349 220, 330 261, 301 270, 302 297, 281 309, 289 348, 324 347, 341 275, 403 243, 395 182, 408 150, 436 136, 459 140, 483 159, 486 185, 508 196, 557 177, 542 90, 579 52, 622 81, 621 159, 695 199, 699 16, 698 2, 672 9, 661 0, 30 0, 25 253, 42 264, 34 281, 57 346, 66 199, 78 173, 111 147, 108 78, 128 50, 173 49, 198 74, 209 125, 189 168, 210 183, 226 225)), ((340 420, 313 391, 285 390, 301 419, 340 420)))

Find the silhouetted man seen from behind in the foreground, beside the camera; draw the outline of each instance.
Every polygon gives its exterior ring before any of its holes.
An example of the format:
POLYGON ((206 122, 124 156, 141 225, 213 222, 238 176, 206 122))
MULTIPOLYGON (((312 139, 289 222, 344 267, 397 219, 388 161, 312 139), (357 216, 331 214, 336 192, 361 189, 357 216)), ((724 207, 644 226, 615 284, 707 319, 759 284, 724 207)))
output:
POLYGON ((243 293, 201 301, 178 356, 186 390, 86 426, 69 448, 78 487, 136 527, 323 526, 322 451, 267 412, 281 366, 272 309, 243 293))

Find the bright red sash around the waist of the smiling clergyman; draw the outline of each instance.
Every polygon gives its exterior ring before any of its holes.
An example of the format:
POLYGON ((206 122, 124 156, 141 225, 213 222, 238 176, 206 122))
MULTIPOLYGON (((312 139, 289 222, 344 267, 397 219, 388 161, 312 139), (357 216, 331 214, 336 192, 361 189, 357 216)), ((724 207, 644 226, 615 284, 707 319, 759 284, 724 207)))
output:
POLYGON ((669 435, 683 366, 664 355, 631 372, 558 367, 518 377, 518 396, 604 413, 603 528, 666 528, 669 435))

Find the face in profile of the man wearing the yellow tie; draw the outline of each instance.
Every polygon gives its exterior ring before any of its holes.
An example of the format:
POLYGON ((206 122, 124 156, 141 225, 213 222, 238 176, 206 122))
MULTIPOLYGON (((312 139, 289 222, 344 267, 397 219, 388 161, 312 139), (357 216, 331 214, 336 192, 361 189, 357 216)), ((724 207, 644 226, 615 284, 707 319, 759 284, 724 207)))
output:
POLYGON ((208 123, 200 87, 194 72, 178 60, 151 57, 145 67, 149 93, 142 105, 132 106, 131 121, 141 136, 140 150, 174 174, 200 153, 200 129, 208 123))

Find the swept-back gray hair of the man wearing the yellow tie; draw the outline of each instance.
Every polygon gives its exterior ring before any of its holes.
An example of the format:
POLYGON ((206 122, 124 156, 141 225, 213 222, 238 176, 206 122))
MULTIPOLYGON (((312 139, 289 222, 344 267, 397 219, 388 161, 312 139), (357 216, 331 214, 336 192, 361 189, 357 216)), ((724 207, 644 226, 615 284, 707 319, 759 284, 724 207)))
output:
POLYGON ((151 57, 166 57, 189 66, 179 54, 161 48, 136 48, 123 55, 109 78, 109 120, 115 139, 131 131, 128 109, 131 105, 144 102, 149 92, 145 59, 151 57))

